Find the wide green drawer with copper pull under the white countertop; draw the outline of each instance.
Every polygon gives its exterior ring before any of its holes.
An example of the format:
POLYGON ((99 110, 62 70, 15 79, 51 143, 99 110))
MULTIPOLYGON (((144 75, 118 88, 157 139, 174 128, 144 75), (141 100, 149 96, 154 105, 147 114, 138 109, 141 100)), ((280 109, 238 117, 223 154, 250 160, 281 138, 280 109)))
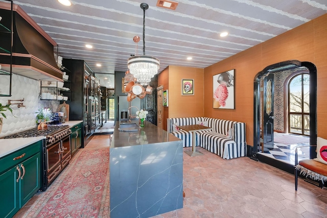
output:
POLYGON ((0 173, 41 151, 42 141, 31 144, 0 159, 0 173))

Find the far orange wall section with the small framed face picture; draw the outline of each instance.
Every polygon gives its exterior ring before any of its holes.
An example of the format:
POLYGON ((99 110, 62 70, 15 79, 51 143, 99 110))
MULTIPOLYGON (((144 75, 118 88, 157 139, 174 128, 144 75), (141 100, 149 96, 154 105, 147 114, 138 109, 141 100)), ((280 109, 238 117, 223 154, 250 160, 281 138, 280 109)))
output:
POLYGON ((158 75, 158 85, 168 89, 168 107, 164 107, 163 127, 167 118, 203 116, 203 72, 193 67, 169 66, 158 75), (181 95, 182 79, 194 79, 194 95, 181 95))

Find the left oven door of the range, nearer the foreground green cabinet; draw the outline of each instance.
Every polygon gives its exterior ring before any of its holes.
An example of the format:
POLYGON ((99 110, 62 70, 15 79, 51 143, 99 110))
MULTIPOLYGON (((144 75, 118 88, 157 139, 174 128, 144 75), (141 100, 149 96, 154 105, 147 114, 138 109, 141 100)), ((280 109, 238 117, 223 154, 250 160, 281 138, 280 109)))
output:
POLYGON ((46 148, 46 174, 48 175, 55 168, 60 166, 61 142, 56 141, 46 148))

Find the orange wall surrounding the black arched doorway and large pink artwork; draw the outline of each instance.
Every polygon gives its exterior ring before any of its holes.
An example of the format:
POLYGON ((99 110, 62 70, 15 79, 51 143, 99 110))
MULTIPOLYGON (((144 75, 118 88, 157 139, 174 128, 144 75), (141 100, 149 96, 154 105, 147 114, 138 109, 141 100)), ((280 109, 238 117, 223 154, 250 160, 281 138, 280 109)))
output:
POLYGON ((253 146, 253 80, 266 66, 298 60, 317 67, 317 133, 327 138, 327 14, 204 69, 204 116, 246 123, 253 146), (235 110, 213 109, 213 76, 235 69, 235 110))

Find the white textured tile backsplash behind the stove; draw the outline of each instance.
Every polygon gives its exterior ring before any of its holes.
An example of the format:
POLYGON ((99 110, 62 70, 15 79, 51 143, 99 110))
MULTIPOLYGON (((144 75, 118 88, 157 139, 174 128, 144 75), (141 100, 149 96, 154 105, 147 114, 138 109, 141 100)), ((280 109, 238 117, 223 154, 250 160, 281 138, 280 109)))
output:
POLYGON ((40 101, 40 82, 37 80, 13 74, 11 92, 12 96, 10 97, 0 96, 0 103, 7 105, 8 100, 24 99, 25 107, 18 108, 17 105, 12 104, 10 108, 12 108, 13 114, 10 111, 5 111, 7 119, 4 119, 0 137, 36 127, 35 112, 37 112, 38 108, 50 107, 56 109, 59 107, 57 101, 40 101))

